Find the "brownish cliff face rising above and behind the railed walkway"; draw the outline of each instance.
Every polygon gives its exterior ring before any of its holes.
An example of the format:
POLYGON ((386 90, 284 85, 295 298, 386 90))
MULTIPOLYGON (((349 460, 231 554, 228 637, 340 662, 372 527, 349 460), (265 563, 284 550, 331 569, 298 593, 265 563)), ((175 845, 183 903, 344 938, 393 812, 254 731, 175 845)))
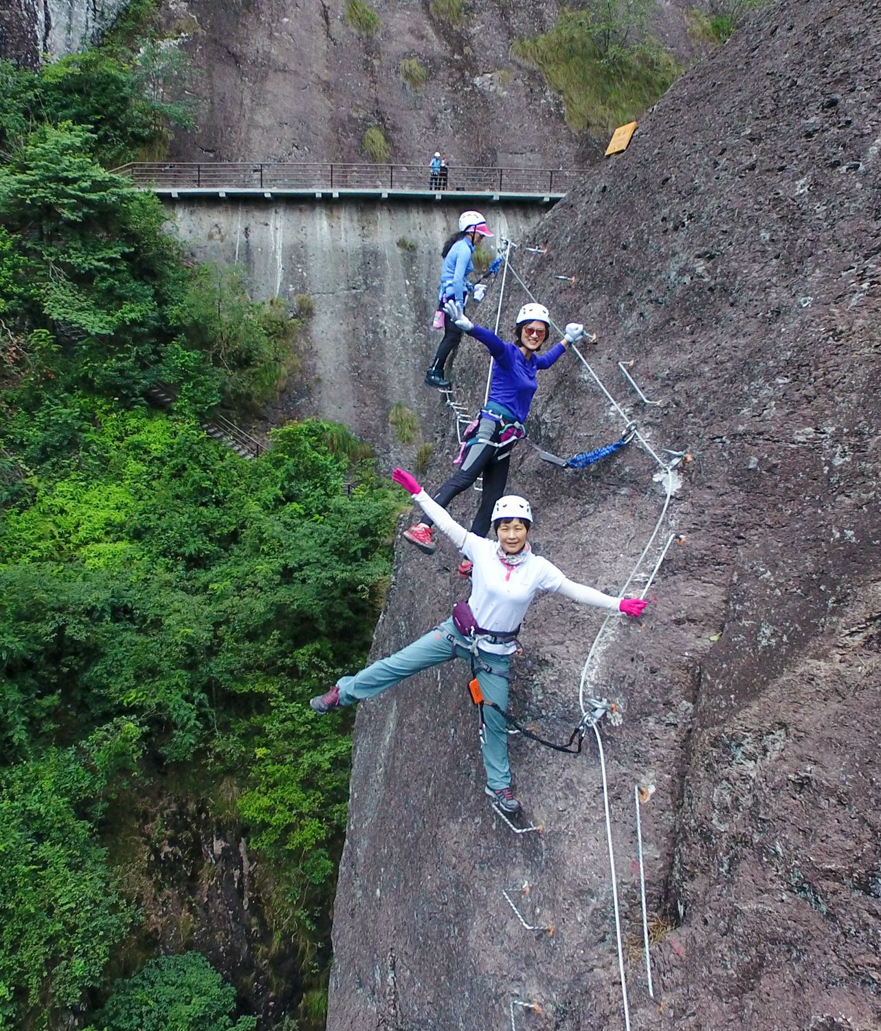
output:
MULTIPOLYGON (((655 29, 680 57, 693 51, 685 0, 658 5, 655 29)), ((205 100, 198 132, 178 135, 187 161, 367 161, 362 138, 382 129, 395 162, 446 151, 453 167, 557 168, 602 148, 566 125, 542 76, 510 55, 513 40, 548 31, 566 4, 537 0, 429 3, 372 0, 376 31, 344 20, 344 0, 166 0, 169 25, 189 25, 188 52, 205 100), (461 9, 461 22, 444 10, 461 9), (401 62, 427 79, 408 86, 401 62)))

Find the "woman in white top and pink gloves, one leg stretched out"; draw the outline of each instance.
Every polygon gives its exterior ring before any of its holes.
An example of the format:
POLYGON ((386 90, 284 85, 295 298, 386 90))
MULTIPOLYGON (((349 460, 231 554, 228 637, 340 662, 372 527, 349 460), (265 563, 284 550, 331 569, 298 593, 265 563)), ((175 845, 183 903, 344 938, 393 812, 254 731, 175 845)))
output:
POLYGON ((547 559, 536 555, 527 540, 533 524, 529 501, 510 495, 500 498, 493 510, 496 540, 468 533, 437 502, 432 501, 413 476, 404 469, 392 474, 461 552, 474 563, 471 597, 460 602, 453 616, 418 640, 379 659, 353 676, 341 677, 330 691, 309 702, 325 714, 341 705, 373 698, 420 670, 450 659, 470 661, 488 705, 483 710, 485 733, 481 741, 486 771, 485 793, 501 810, 517 812, 520 803, 511 789, 508 763, 508 726, 502 714, 508 708, 511 655, 516 636, 533 598, 539 591, 552 591, 581 605, 594 605, 637 618, 646 602, 640 598, 615 598, 569 579, 547 559))

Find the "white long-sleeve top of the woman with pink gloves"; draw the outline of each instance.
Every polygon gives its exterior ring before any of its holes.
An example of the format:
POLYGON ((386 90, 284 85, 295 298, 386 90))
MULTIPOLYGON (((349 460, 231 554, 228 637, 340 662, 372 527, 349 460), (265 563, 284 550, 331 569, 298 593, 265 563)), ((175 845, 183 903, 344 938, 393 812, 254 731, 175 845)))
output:
MULTIPOLYGON (((531 552, 517 565, 505 565, 499 558, 497 541, 469 533, 425 491, 416 494, 414 500, 437 528, 474 563, 468 606, 483 630, 497 634, 512 633, 522 623, 530 602, 539 591, 554 591, 581 605, 617 611, 620 598, 576 584, 540 555, 531 552)), ((480 647, 497 655, 509 655, 516 651, 513 641, 499 644, 481 641, 480 647)))

